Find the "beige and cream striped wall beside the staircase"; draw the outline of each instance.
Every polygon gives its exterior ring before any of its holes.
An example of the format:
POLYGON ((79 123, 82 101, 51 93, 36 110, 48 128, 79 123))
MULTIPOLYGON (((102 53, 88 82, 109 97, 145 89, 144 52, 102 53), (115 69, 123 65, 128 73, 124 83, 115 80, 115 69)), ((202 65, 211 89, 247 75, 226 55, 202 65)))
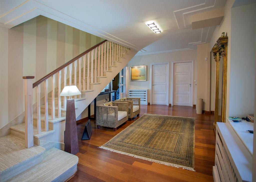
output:
POLYGON ((0 128, 24 111, 22 76, 39 80, 102 40, 44 16, 0 27, 0 128))

